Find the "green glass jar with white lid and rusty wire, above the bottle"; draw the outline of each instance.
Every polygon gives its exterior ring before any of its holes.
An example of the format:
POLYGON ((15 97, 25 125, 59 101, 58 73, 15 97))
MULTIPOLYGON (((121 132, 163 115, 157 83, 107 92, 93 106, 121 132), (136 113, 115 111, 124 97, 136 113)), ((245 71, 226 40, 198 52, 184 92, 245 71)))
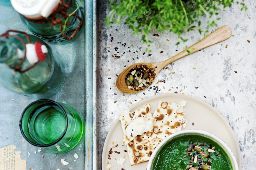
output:
POLYGON ((42 40, 67 44, 82 31, 83 0, 11 0, 27 29, 42 40), (67 21, 67 22, 66 22, 67 21))

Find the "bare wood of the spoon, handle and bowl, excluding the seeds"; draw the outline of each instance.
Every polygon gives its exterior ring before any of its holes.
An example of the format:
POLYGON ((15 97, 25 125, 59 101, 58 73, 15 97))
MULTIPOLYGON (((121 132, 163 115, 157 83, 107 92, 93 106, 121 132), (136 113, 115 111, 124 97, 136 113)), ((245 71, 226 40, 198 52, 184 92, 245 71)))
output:
MULTIPOLYGON (((204 37, 203 39, 201 39, 200 41, 198 41, 196 44, 190 46, 188 49, 191 51, 190 53, 187 52, 187 50, 183 50, 182 52, 180 52, 179 54, 174 55, 173 57, 169 58, 166 61, 163 62, 159 62, 159 63, 135 63, 132 64, 130 66, 128 66, 124 71, 122 71, 117 80, 116 80, 116 88, 123 93, 126 94, 131 94, 131 93, 137 93, 139 91, 142 90, 131 90, 127 87, 126 83, 125 83, 125 79, 126 79, 126 75, 127 73, 136 65, 147 65, 148 67, 151 68, 155 68, 155 79, 157 74, 168 64, 179 60, 182 57, 187 56, 188 54, 192 54, 194 52, 197 52, 199 50, 202 50, 206 47, 212 46, 214 44, 220 43, 228 38, 230 38, 232 35, 232 31, 230 30, 230 28, 228 26, 222 26, 220 28, 218 28, 217 30, 213 31, 212 33, 210 33, 209 35, 207 35, 206 37, 204 37)), ((149 85, 148 85, 149 86, 149 85)), ((148 87, 147 86, 147 87, 148 87)), ((146 87, 144 88, 146 89, 146 87)), ((144 90, 143 89, 143 90, 144 90)))

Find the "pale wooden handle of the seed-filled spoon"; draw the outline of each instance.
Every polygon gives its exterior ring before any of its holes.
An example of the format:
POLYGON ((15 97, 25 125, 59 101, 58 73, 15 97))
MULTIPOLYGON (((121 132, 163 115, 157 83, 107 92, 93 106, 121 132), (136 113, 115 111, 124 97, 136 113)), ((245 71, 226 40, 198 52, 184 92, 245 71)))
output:
POLYGON ((232 31, 228 26, 222 26, 218 28, 217 30, 213 31, 200 41, 198 41, 196 44, 193 44, 192 46, 188 47, 188 49, 191 51, 190 53, 187 52, 187 50, 181 51, 179 54, 174 55, 173 57, 169 58, 166 61, 161 62, 162 68, 166 65, 179 60, 182 57, 187 56, 188 54, 192 54, 194 52, 197 52, 199 50, 202 50, 204 48, 207 48, 209 46, 212 46, 214 44, 220 43, 228 38, 230 38, 232 35, 232 31))

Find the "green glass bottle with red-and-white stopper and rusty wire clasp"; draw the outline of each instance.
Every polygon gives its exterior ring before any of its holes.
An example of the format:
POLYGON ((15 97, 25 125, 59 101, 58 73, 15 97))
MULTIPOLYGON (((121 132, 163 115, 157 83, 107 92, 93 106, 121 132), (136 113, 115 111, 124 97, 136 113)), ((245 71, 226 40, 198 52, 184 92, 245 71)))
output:
POLYGON ((65 69, 44 41, 14 30, 0 35, 0 83, 4 87, 41 99, 56 94, 64 80, 65 69))

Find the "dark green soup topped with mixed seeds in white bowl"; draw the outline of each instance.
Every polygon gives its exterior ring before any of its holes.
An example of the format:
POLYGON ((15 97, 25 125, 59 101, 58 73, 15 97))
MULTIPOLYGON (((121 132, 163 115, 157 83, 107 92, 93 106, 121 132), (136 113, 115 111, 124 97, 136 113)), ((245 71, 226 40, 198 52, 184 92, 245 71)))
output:
POLYGON ((220 145, 210 138, 194 134, 175 137, 168 141, 156 154, 151 168, 189 169, 233 170, 228 154, 220 145))

